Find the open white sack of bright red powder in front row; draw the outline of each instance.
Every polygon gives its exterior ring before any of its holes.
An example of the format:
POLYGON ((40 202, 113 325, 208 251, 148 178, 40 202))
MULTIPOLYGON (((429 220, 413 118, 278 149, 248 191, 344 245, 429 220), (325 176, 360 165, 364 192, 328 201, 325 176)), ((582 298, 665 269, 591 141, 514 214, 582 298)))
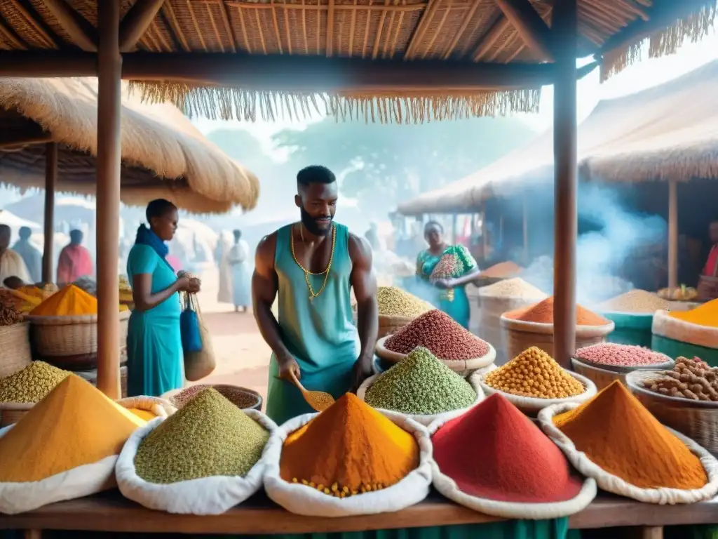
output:
POLYGON ((504 518, 567 517, 596 497, 561 450, 501 395, 429 425, 434 487, 472 510, 504 518))

